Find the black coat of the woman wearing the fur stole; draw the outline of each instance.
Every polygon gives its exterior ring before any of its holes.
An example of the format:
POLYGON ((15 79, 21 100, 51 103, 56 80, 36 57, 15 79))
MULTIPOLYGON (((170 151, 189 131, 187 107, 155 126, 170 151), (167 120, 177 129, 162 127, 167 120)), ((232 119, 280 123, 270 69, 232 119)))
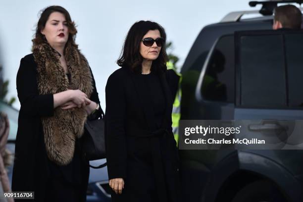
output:
MULTIPOLYGON (((45 200, 46 187, 50 175, 50 164, 44 143, 41 117, 53 115, 53 95, 39 95, 37 86, 37 64, 33 54, 21 59, 17 73, 17 92, 21 104, 18 117, 18 131, 15 144, 15 159, 12 176, 12 191, 35 192, 35 200, 45 200)), ((94 91, 90 100, 100 104, 93 78, 94 91)), ((81 141, 79 141, 79 144, 81 141)), ((82 180, 88 182, 88 160, 81 156, 83 162, 82 180)), ((65 170, 63 175, 69 180, 72 176, 65 170), (64 173, 65 172, 65 173, 64 173)), ((86 196, 87 183, 83 185, 86 196)), ((64 190, 62 190, 64 193, 64 190)), ((30 200, 33 201, 33 200, 30 200)))

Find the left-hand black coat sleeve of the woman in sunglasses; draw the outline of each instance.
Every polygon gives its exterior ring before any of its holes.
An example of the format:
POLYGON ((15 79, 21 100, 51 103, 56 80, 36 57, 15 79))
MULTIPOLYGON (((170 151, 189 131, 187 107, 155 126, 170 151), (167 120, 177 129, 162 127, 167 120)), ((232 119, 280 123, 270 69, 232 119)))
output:
POLYGON ((105 87, 105 143, 108 178, 126 178, 126 100, 123 78, 113 73, 105 87))

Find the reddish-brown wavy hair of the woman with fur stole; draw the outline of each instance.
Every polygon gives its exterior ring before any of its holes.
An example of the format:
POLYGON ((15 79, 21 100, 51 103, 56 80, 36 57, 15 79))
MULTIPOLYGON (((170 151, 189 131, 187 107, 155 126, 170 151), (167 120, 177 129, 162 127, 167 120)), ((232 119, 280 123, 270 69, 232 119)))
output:
POLYGON ((59 5, 49 6, 42 11, 40 19, 39 19, 37 27, 36 27, 35 37, 32 40, 33 46, 47 42, 45 36, 41 33, 41 30, 44 29, 46 22, 48 21, 48 19, 50 17, 50 14, 53 12, 59 12, 64 15, 66 23, 67 23, 67 27, 68 27, 68 32, 69 32, 67 43, 71 43, 73 46, 78 47, 75 43, 75 38, 76 38, 76 34, 77 34, 75 22, 71 20, 68 11, 59 5))

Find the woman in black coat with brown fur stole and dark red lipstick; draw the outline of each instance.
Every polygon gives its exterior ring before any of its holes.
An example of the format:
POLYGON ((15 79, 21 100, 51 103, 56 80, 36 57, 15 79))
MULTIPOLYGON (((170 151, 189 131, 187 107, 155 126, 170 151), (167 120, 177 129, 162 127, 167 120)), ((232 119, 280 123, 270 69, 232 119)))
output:
POLYGON ((37 202, 86 201, 89 161, 81 137, 87 116, 101 109, 76 33, 66 9, 45 8, 33 53, 21 59, 17 73, 21 108, 12 190, 35 192, 37 202))

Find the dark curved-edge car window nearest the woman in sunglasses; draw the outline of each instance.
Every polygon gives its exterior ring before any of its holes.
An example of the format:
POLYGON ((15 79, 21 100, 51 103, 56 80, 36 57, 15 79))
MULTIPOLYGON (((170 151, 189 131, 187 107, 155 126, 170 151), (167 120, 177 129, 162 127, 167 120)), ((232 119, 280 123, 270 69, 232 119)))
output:
POLYGON ((218 40, 207 64, 201 91, 204 100, 234 103, 234 35, 218 40))

